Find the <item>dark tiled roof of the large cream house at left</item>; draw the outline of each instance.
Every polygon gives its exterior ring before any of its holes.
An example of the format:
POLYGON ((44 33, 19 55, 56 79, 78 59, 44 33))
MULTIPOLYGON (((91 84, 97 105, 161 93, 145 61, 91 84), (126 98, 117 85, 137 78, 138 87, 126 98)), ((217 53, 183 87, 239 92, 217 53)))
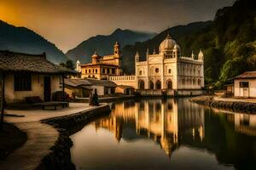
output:
POLYGON ((0 71, 28 71, 35 73, 75 74, 46 59, 45 54, 21 54, 0 50, 0 71))

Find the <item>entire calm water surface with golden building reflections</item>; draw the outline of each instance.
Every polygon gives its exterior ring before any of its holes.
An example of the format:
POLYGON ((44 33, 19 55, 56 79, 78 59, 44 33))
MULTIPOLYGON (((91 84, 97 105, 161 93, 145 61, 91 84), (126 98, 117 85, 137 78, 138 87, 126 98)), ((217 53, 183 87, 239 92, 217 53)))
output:
POLYGON ((224 113, 189 99, 111 105, 71 136, 78 169, 256 169, 256 115, 224 113))

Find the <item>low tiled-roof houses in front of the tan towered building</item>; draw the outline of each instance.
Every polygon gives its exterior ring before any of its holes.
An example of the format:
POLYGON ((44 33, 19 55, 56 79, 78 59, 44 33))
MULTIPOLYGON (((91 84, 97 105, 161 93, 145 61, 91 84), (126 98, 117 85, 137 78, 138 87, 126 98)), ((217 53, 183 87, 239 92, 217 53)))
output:
POLYGON ((65 92, 73 97, 87 98, 90 93, 95 93, 95 89, 99 96, 114 94, 117 85, 108 80, 96 79, 65 79, 65 92))

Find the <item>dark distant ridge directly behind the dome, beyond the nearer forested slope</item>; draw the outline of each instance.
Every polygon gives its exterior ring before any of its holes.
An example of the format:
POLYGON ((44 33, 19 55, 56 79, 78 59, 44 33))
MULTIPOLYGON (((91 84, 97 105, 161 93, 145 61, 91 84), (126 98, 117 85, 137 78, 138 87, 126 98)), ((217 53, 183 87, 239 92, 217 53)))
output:
POLYGON ((145 42, 136 42, 133 45, 126 45, 122 49, 122 66, 126 74, 134 74, 134 56, 138 53, 141 56, 141 60, 145 59, 146 51, 149 49, 149 53, 152 54, 154 49, 158 52, 160 42, 162 42, 169 31, 172 38, 181 46, 181 51, 183 55, 190 56, 192 49, 186 45, 187 37, 206 29, 208 26, 212 25, 212 21, 201 21, 193 22, 186 26, 174 26, 170 29, 160 32, 157 36, 149 39, 145 42))

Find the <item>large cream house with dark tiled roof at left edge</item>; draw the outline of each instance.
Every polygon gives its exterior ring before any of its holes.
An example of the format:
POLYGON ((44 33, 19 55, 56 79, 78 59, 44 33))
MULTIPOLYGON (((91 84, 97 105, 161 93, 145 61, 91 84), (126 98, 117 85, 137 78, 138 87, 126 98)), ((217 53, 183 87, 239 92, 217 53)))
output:
POLYGON ((1 92, 7 104, 25 102, 38 96, 42 101, 52 100, 53 94, 63 92, 63 80, 75 74, 67 68, 46 59, 46 54, 21 54, 0 51, 1 92))

